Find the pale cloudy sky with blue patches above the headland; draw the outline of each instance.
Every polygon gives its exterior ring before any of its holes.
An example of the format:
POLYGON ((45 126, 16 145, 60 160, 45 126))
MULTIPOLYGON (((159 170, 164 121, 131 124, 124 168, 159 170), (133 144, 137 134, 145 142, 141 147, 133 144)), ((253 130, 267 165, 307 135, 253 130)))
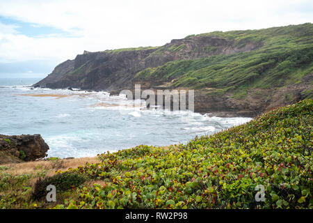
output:
POLYGON ((45 77, 90 52, 313 22, 312 0, 0 0, 0 77, 45 77))

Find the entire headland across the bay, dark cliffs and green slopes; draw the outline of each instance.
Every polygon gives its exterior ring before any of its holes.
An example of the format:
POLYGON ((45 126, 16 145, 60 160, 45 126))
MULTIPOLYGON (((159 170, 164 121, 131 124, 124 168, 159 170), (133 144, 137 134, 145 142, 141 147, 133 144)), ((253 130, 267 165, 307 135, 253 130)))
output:
POLYGON ((312 98, 313 25, 213 32, 161 47, 83 52, 34 86, 195 89, 195 112, 255 116, 312 98))

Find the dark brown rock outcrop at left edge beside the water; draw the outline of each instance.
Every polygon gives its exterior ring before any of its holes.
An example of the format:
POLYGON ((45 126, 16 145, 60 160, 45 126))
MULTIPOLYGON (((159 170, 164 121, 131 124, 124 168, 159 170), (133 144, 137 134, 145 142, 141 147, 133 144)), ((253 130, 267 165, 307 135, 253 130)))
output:
POLYGON ((0 164, 6 162, 33 161, 46 157, 49 146, 40 134, 0 134, 0 164))

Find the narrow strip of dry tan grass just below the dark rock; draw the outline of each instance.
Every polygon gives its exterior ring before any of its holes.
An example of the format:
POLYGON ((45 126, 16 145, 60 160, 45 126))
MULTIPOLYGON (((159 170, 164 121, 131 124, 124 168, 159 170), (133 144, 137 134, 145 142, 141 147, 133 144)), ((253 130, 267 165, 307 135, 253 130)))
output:
POLYGON ((19 174, 38 174, 40 171, 47 171, 47 176, 53 175, 56 171, 66 171, 69 168, 77 168, 80 165, 85 165, 89 163, 100 162, 97 157, 82 157, 74 159, 61 159, 61 160, 42 160, 42 161, 33 161, 33 162, 21 162, 21 163, 11 163, 4 164, 8 167, 7 170, 3 171, 12 175, 19 174))

